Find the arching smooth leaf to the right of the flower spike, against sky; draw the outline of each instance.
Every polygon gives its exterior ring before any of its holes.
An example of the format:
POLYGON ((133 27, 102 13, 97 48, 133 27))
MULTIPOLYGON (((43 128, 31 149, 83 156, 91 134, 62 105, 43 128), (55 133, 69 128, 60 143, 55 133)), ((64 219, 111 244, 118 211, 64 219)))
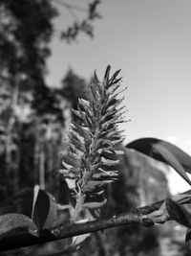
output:
POLYGON ((126 148, 139 151, 170 165, 191 185, 186 174, 186 172, 191 173, 191 157, 177 146, 156 138, 141 138, 127 144, 126 148))

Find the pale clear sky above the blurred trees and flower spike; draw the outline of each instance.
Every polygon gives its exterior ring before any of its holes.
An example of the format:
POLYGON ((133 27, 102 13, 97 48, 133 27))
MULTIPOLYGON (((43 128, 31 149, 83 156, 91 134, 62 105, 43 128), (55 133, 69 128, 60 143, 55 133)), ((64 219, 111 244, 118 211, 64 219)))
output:
MULTIPOLYGON (((89 2, 68 1, 81 7, 89 2)), ((124 105, 131 122, 121 126, 126 142, 157 137, 191 154, 191 1, 101 2, 102 19, 95 22, 93 40, 80 35, 77 42, 67 45, 56 34, 53 37, 48 83, 60 84, 69 68, 87 80, 96 69, 101 80, 111 64, 113 72, 121 69, 121 86, 127 86, 124 105)), ((54 24, 61 31, 74 17, 55 6, 60 16, 54 24)), ((80 19, 81 13, 76 14, 80 19)), ((177 183, 178 179, 173 180, 177 183)))

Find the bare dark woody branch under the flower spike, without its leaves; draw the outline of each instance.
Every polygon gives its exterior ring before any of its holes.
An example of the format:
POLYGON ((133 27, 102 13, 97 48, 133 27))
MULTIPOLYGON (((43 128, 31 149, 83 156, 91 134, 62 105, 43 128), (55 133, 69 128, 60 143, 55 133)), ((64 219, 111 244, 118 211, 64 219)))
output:
POLYGON ((155 202, 151 205, 140 207, 134 211, 120 214, 118 216, 113 216, 112 218, 105 220, 88 221, 86 223, 78 224, 66 223, 50 230, 40 230, 39 237, 31 235, 27 230, 18 233, 12 232, 12 234, 9 236, 1 236, 0 250, 9 250, 18 247, 31 246, 34 244, 48 243, 130 223, 139 223, 143 225, 150 223, 149 225, 153 225, 154 223, 152 221, 149 222, 149 219, 146 219, 146 217, 144 218, 144 215, 159 210, 162 202, 163 201, 155 202))

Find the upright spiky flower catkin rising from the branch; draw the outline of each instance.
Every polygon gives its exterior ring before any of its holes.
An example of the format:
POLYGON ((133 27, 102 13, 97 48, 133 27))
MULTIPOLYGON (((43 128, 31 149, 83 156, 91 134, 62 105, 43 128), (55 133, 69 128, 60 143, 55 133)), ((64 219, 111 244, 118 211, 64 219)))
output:
MULTIPOLYGON (((64 169, 59 172, 66 179, 75 198, 74 215, 72 221, 78 221, 83 205, 95 206, 95 197, 104 192, 105 185, 117 179, 117 144, 123 137, 117 129, 122 123, 124 106, 120 107, 123 98, 119 98, 121 78, 117 78, 118 70, 110 78, 111 66, 105 71, 102 83, 95 73, 91 84, 91 100, 78 100, 74 114, 81 125, 73 122, 69 131, 69 152, 63 158, 64 169), (85 202, 90 196, 88 203, 85 202)), ((103 199, 104 200, 104 199, 103 199)), ((101 205, 101 202, 100 202, 101 205)))

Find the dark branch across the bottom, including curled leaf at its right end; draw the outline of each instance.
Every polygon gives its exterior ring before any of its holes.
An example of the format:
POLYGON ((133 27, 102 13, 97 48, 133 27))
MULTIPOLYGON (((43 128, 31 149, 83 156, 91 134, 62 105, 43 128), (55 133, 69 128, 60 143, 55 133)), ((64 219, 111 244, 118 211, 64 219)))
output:
POLYGON ((40 230, 36 233, 36 236, 33 235, 29 227, 25 228, 25 226, 23 226, 22 230, 14 229, 10 233, 1 235, 0 251, 53 242, 124 224, 152 226, 155 223, 164 223, 174 220, 191 227, 191 221, 187 218, 188 214, 183 210, 184 204, 190 203, 190 193, 191 191, 186 191, 172 199, 167 198, 160 200, 108 219, 80 223, 66 222, 51 229, 40 230), (185 215, 187 219, 186 221, 182 221, 182 216, 184 219, 185 215))

